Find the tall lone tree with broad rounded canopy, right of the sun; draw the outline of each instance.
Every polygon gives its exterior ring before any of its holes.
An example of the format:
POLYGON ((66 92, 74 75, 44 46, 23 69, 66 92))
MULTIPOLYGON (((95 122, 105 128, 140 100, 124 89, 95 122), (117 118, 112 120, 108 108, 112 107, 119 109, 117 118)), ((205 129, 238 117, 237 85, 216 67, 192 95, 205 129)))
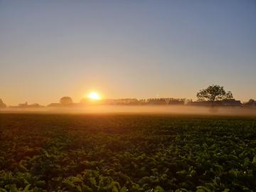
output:
POLYGON ((198 101, 210 101, 213 107, 215 101, 230 100, 233 98, 233 94, 230 91, 226 92, 223 86, 210 85, 206 89, 200 90, 196 97, 198 97, 198 101))

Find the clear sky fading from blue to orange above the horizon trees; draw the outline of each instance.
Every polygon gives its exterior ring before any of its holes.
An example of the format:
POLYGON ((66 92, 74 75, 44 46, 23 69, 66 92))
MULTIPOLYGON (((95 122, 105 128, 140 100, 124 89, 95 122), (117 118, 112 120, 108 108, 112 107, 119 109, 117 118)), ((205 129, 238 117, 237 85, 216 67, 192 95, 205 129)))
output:
POLYGON ((256 99, 256 1, 0 0, 0 98, 256 99))

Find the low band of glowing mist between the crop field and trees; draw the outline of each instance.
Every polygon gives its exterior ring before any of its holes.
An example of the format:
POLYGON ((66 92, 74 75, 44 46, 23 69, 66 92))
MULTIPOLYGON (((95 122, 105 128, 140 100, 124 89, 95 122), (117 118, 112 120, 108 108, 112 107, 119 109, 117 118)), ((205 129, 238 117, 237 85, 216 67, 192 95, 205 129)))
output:
POLYGON ((256 107, 192 107, 192 106, 113 106, 92 105, 87 107, 39 107, 39 108, 6 108, 1 113, 132 113, 132 114, 208 114, 208 115, 241 115, 256 116, 256 107))

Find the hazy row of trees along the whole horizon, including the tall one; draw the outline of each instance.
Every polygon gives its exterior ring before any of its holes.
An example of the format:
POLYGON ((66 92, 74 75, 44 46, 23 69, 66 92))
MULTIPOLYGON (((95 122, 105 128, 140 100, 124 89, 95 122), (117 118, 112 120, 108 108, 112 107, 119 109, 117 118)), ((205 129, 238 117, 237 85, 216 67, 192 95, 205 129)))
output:
MULTIPOLYGON (((97 104, 105 105, 208 105, 211 107, 215 105, 243 105, 243 106, 256 106, 256 101, 250 99, 243 104, 233 98, 233 93, 226 91, 223 86, 209 85, 203 90, 199 90, 196 94, 198 100, 193 102, 192 100, 177 99, 177 98, 150 98, 147 100, 137 100, 136 98, 117 99, 117 100, 100 100, 95 101, 97 104)), ((75 104, 71 97, 61 97, 58 103, 51 103, 48 107, 60 107, 60 106, 73 106, 92 103, 91 101, 83 98, 80 103, 75 104)), ((6 104, 0 99, 0 108, 7 107, 6 104)), ((27 102, 19 104, 16 107, 43 107, 37 103, 28 105, 27 102)))

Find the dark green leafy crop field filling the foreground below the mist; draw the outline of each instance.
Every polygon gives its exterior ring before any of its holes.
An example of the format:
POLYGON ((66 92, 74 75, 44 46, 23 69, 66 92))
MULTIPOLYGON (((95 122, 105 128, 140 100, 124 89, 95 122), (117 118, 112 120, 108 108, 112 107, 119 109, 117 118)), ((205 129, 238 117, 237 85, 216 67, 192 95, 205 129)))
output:
POLYGON ((0 191, 256 191, 256 118, 0 114, 0 191))

